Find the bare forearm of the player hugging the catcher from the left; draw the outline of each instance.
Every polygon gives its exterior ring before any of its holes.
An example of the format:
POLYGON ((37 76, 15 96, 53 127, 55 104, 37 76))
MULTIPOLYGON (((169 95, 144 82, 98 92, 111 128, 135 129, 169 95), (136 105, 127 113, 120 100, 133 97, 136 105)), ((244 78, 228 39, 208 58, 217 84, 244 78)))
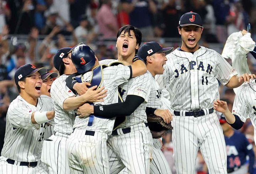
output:
POLYGON ((63 102, 63 110, 72 111, 77 109, 79 106, 86 103, 86 99, 83 96, 69 97, 63 102))

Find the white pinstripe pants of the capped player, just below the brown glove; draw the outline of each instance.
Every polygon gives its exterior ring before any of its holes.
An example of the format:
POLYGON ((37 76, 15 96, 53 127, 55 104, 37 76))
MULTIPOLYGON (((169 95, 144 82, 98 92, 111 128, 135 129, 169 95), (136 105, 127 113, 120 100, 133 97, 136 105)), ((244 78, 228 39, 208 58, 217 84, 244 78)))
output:
MULTIPOLYGON (((161 143, 158 139, 153 139, 152 161, 150 163, 150 174, 171 174, 170 166, 161 151, 161 143)), ((126 174, 127 168, 119 174, 126 174)))

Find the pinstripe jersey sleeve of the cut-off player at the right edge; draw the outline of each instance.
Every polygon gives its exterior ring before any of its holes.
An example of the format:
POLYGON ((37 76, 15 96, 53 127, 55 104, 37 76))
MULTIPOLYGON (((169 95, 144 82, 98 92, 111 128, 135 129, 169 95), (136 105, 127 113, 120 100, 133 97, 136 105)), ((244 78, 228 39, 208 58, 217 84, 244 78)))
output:
POLYGON ((235 96, 232 113, 236 114, 242 122, 249 118, 249 105, 246 96, 246 85, 242 85, 235 96))

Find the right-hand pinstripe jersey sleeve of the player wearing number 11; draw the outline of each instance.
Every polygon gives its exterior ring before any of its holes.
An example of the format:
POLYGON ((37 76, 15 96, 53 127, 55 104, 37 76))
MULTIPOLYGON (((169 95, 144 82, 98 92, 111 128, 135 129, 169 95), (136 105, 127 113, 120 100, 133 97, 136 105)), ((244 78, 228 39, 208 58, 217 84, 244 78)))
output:
POLYGON ((226 85, 231 77, 234 75, 237 75, 237 72, 231 65, 225 60, 224 57, 222 57, 219 53, 215 51, 215 56, 217 57, 217 65, 216 65, 216 75, 217 79, 222 83, 223 85, 226 85))

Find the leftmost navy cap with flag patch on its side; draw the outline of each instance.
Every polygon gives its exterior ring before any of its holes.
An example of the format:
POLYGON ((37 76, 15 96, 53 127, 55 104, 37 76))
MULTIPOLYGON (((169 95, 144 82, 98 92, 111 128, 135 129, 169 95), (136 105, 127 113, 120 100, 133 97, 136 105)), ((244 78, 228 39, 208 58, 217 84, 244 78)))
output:
POLYGON ((18 81, 21 81, 25 77, 28 77, 38 72, 40 75, 47 72, 46 68, 36 68, 33 64, 25 64, 18 68, 14 74, 15 84, 18 85, 18 81))

